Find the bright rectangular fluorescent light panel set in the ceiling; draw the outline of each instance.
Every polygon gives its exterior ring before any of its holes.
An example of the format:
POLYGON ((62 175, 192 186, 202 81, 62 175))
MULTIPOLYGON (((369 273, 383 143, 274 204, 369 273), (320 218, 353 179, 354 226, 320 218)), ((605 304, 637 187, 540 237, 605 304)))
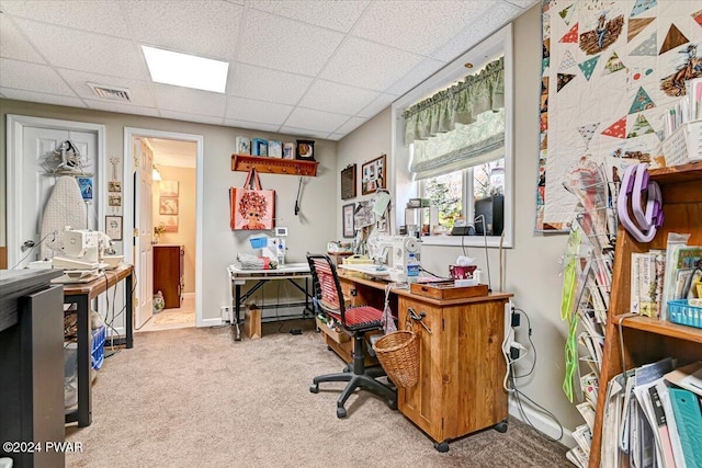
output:
POLYGON ((156 47, 141 46, 151 80, 203 91, 224 93, 229 64, 156 47))

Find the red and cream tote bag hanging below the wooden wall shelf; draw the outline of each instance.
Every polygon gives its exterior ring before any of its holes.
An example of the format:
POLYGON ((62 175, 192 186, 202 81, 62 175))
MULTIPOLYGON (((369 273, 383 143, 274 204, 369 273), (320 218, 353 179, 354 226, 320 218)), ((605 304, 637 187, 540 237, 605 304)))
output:
POLYGON ((242 187, 229 189, 229 210, 234 230, 273 229, 275 191, 261 189, 259 173, 251 169, 242 187))

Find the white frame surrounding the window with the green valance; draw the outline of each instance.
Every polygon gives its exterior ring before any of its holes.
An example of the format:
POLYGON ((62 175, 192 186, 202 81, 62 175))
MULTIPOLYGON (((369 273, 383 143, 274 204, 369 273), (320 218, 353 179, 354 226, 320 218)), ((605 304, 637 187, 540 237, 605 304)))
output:
MULTIPOLYGON (((405 147, 405 118, 403 112, 435 92, 442 87, 462 79, 466 75, 464 64, 479 64, 479 67, 495 59, 498 54, 505 55, 505 229, 502 236, 422 236, 421 241, 426 246, 465 246, 484 247, 487 240, 488 247, 513 247, 514 239, 514 85, 513 85, 513 46, 512 24, 509 23, 495 34, 483 41, 477 46, 467 50, 458 58, 448 64, 437 73, 424 80, 410 92, 398 98, 392 106, 392 144, 394 174, 389 186, 395 194, 395 226, 401 226, 405 217, 405 206, 409 198, 419 197, 420 182, 412 180, 409 170, 410 149, 405 147), (503 239, 502 239, 503 238, 503 239)), ((476 68, 479 68, 476 67, 476 68)), ((464 172, 464 201, 466 185, 464 172)), ((469 183, 472 186, 472 181, 469 183)), ((471 192, 472 194, 472 192, 471 192)), ((471 197, 472 199, 472 197, 471 197)), ((464 208, 464 212, 466 209, 464 208)))

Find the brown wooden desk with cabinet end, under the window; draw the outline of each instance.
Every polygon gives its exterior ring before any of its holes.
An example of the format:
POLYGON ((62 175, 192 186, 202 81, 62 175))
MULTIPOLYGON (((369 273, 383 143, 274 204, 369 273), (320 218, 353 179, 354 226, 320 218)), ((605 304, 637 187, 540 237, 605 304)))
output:
MULTIPOLYGON (((339 274, 344 295, 354 305, 383 308, 385 282, 339 274), (380 293, 380 295, 378 295, 380 293), (382 298, 377 301, 378 297, 382 298)), ((438 300, 393 289, 390 308, 398 328, 407 329, 409 310, 424 313, 426 331, 409 324, 420 338, 420 377, 398 389, 398 409, 434 441, 439 452, 451 440, 495 426, 507 430, 508 399, 502 387, 505 306, 512 294, 438 300)))

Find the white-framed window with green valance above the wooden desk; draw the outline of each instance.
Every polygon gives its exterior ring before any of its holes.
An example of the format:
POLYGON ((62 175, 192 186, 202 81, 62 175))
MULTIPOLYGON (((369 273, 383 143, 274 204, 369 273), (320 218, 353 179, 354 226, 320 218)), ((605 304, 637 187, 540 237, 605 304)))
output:
POLYGON ((406 224, 405 206, 410 198, 429 198, 438 212, 434 225, 438 228, 422 237, 428 244, 483 246, 485 228, 488 246, 512 246, 511 52, 511 25, 507 25, 393 104, 392 152, 397 173, 390 186, 396 196, 395 222, 398 227, 406 224), (471 73, 464 66, 466 62, 478 71, 471 73), (485 70, 497 69, 490 67, 499 67, 503 72, 503 91, 490 95, 497 105, 488 104, 475 115, 454 115, 451 127, 442 127, 443 117, 426 127, 416 125, 411 111, 421 109, 426 102, 435 103, 434 98, 440 100, 443 91, 454 92, 456 83, 468 82, 469 73, 477 77, 485 70), (420 135, 428 128, 429 136, 420 135), (467 132, 476 129, 480 136, 489 136, 472 146, 467 132), (406 145, 407 141, 412 142, 406 145), (449 236, 461 218, 474 226, 479 237, 449 236))

